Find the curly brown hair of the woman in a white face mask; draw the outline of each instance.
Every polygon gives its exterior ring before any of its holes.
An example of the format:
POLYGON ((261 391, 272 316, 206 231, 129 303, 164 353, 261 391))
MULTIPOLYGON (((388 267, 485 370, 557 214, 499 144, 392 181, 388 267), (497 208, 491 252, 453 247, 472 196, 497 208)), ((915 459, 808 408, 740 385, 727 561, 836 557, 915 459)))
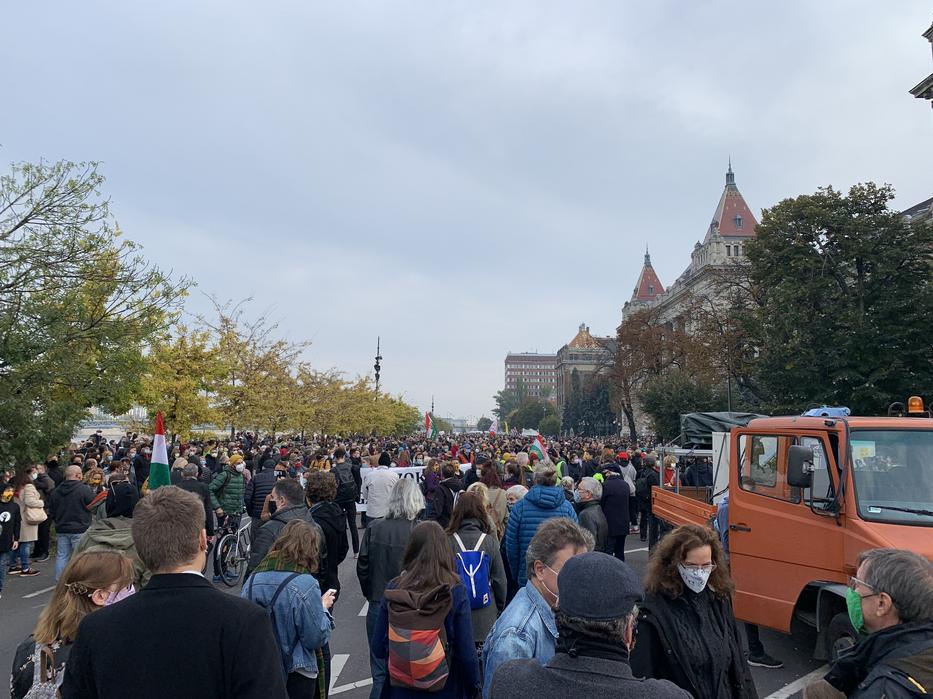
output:
POLYGON ((731 597, 735 583, 729 574, 729 563, 719 543, 719 535, 709 527, 684 524, 666 535, 651 552, 648 572, 645 574, 645 591, 664 595, 671 599, 680 597, 684 583, 677 566, 687 558, 687 553, 701 546, 709 546, 716 568, 709 576, 709 587, 718 597, 731 597))

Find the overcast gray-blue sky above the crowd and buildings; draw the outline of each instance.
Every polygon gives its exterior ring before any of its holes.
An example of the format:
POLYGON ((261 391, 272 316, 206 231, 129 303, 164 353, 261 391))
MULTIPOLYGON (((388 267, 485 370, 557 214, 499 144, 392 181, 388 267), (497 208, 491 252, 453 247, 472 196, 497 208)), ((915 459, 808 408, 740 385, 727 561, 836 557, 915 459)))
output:
MULTIPOLYGON (((99 160, 128 237, 308 358, 489 414, 506 352, 609 335, 687 266, 729 155, 756 213, 933 195, 927 0, 19 2, 0 163, 99 160), (195 7, 196 6, 196 7, 195 7)), ((196 293, 189 306, 203 310, 196 293)))

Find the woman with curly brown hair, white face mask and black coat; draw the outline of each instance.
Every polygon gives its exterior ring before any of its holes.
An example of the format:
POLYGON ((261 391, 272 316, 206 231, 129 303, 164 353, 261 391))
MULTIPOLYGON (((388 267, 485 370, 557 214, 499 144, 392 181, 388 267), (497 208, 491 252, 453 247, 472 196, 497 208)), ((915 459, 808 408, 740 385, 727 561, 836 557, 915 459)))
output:
POLYGON ((757 698, 732 613, 735 585, 712 529, 677 527, 648 562, 632 671, 697 699, 757 698))

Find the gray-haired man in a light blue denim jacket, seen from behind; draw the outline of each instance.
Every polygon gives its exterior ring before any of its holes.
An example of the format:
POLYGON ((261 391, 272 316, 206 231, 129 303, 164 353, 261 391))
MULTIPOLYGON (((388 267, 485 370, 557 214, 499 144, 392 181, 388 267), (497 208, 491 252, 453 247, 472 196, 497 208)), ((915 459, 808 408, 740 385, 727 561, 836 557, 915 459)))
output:
POLYGON ((483 645, 483 697, 496 669, 507 660, 534 658, 544 664, 554 655, 557 626, 557 576, 567 560, 592 549, 593 538, 585 529, 564 517, 543 522, 525 553, 522 587, 509 602, 483 645))

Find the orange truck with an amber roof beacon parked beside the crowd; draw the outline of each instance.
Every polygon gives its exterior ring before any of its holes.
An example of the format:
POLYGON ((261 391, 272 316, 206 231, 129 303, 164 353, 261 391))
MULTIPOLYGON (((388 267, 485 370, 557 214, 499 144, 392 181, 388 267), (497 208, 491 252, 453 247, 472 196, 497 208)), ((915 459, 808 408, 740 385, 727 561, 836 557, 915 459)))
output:
MULTIPOLYGON (((856 641, 845 590, 861 551, 933 560, 933 419, 917 397, 892 406, 898 414, 765 417, 730 430, 736 617, 784 633, 799 620, 817 631, 814 657, 832 660, 856 641)), ((655 487, 652 511, 673 526, 712 525, 714 495, 655 487)))

